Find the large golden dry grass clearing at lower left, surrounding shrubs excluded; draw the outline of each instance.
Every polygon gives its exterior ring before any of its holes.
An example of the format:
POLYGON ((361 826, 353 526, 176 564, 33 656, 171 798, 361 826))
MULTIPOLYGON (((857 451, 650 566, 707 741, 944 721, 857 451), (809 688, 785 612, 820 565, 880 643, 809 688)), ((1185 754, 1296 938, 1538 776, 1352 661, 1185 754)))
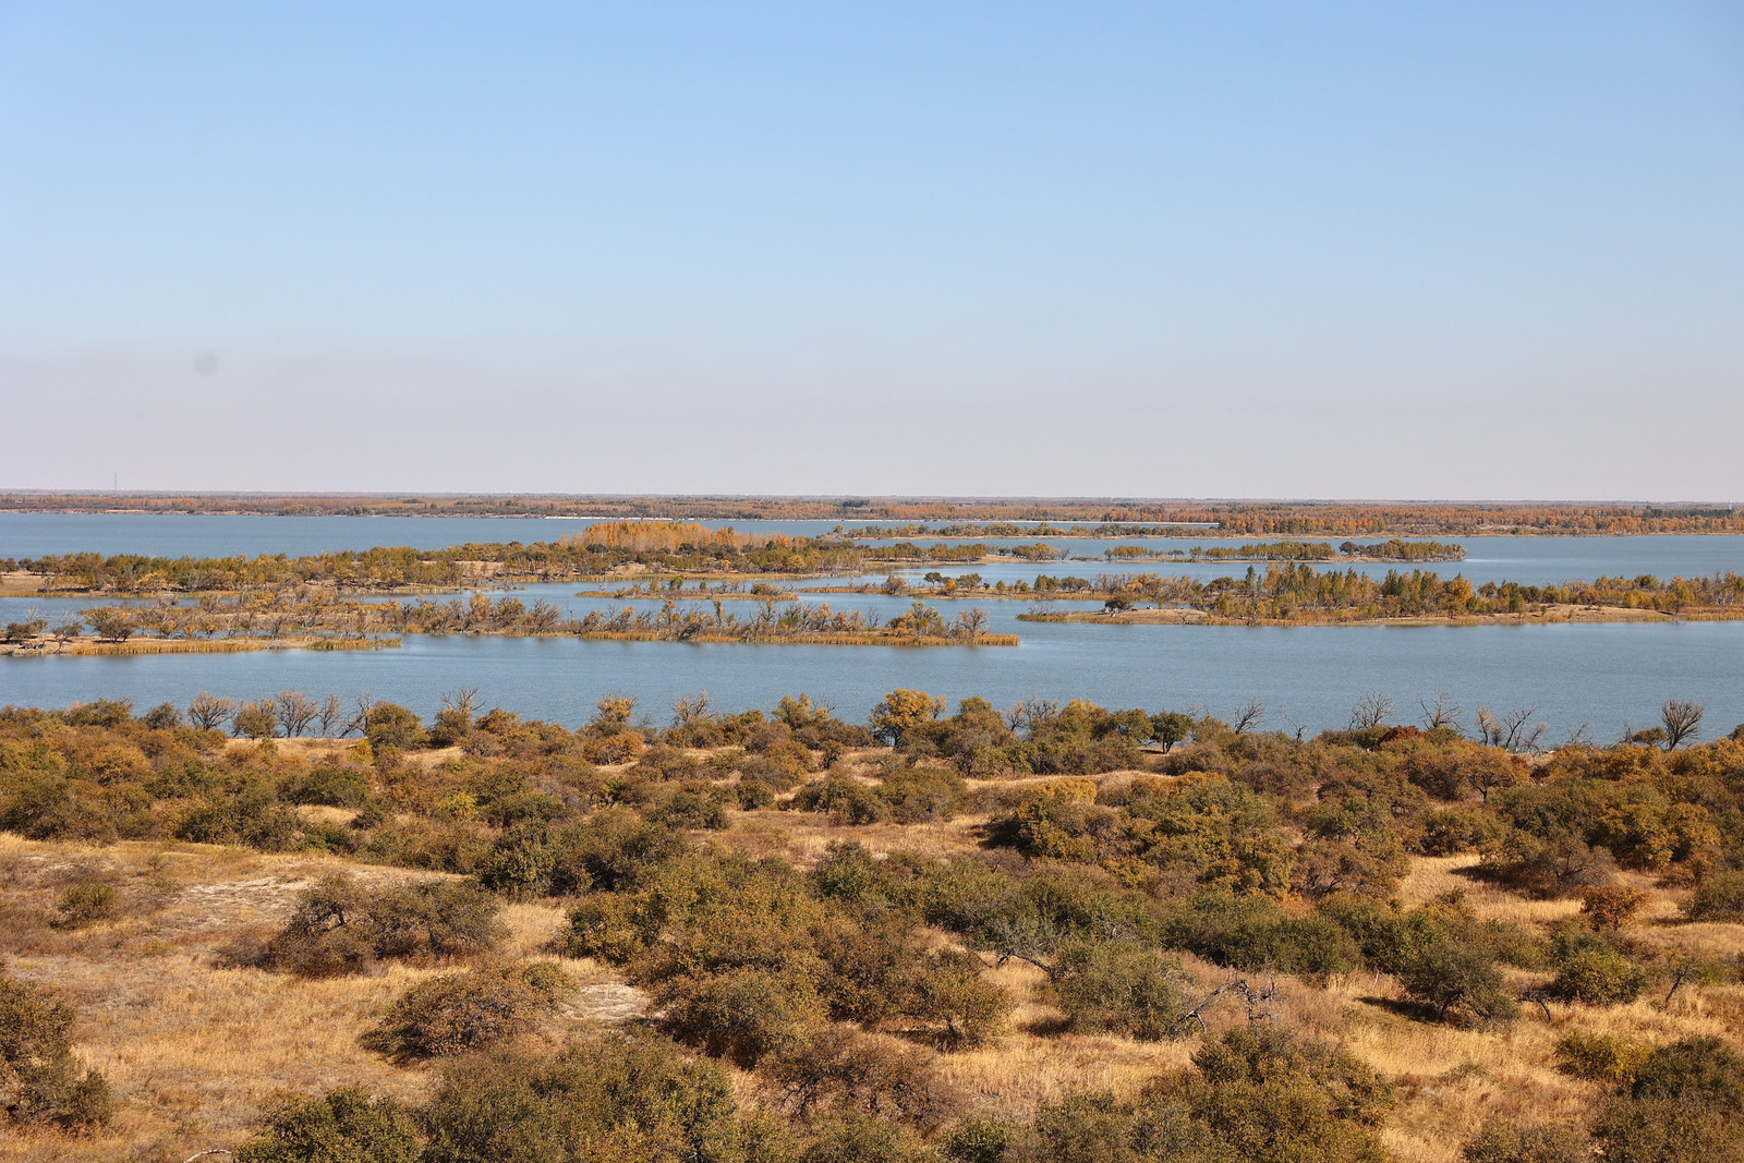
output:
POLYGON ((335 867, 316 856, 194 844, 89 849, 0 837, 14 910, 51 915, 58 884, 92 870, 119 882, 133 905, 120 921, 92 929, 10 924, 0 936, 19 978, 52 982, 72 996, 75 1051, 108 1076, 119 1100, 101 1133, 0 1139, 0 1160, 180 1160, 234 1147, 279 1092, 359 1085, 420 1095, 427 1072, 389 1065, 358 1046, 358 1034, 429 969, 302 982, 220 964, 230 940, 277 924, 296 889, 335 867))

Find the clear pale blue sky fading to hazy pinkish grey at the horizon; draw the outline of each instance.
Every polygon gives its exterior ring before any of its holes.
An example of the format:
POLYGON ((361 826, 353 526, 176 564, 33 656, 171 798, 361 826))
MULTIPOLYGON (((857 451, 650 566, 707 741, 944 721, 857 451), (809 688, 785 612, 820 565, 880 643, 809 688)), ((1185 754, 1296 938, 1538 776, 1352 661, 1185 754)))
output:
POLYGON ((0 0, 0 488, 1744 500, 1744 9, 0 0))

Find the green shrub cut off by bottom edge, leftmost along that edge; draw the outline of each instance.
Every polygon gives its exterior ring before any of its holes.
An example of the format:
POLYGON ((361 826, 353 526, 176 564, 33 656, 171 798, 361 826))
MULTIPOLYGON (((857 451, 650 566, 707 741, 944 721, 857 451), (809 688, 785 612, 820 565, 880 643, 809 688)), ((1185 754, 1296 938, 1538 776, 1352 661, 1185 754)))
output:
POLYGON ((422 1144, 412 1114, 392 1098, 354 1086, 319 1098, 288 1098, 267 1112, 237 1163, 417 1163, 422 1144))

